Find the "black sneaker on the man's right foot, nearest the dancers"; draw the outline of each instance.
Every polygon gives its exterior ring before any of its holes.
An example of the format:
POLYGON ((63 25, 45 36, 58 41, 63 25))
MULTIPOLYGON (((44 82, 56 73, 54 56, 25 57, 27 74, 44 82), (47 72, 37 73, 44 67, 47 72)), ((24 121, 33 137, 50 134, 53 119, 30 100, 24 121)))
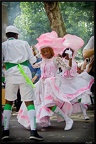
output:
POLYGON ((30 140, 44 140, 44 138, 38 135, 37 130, 30 131, 30 140))

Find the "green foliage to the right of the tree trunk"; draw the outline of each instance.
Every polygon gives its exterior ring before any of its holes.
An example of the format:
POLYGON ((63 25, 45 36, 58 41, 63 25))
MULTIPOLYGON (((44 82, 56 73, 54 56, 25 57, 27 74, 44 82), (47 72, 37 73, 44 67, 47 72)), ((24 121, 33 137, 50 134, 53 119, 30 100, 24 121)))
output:
POLYGON ((60 2, 67 33, 84 39, 94 34, 94 2, 60 2))

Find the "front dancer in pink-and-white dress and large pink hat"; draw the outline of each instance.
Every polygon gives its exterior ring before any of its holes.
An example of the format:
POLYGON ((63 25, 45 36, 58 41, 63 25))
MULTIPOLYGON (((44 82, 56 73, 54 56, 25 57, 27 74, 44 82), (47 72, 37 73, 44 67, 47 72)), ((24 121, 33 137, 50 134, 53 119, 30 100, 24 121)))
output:
MULTIPOLYGON (((70 66, 69 64, 65 64, 62 58, 56 56, 64 50, 65 47, 64 45, 62 46, 62 43, 65 41, 65 38, 61 41, 62 38, 54 37, 53 34, 56 35, 56 32, 52 31, 51 33, 42 34, 37 39, 38 44, 35 45, 42 55, 42 62, 35 65, 40 65, 41 68, 41 78, 35 85, 36 99, 34 103, 36 107, 36 121, 41 126, 48 126, 50 116, 56 113, 57 116, 62 117, 66 122, 64 130, 70 130, 73 126, 73 120, 69 117, 72 112, 72 105, 60 90, 60 83, 58 83, 60 81, 58 81, 57 78, 59 77, 57 74, 59 67, 65 71, 70 69, 70 66), (52 82, 52 85, 50 82, 52 82), (61 108, 63 103, 65 103, 65 108, 63 107, 65 111, 62 111, 61 108)), ((79 39, 79 47, 82 47, 84 44, 83 40, 79 37, 75 37, 75 39, 79 39)), ((22 116, 24 113, 23 107, 21 110, 22 113, 18 113, 17 117, 19 122, 21 118, 20 115, 22 116)))

